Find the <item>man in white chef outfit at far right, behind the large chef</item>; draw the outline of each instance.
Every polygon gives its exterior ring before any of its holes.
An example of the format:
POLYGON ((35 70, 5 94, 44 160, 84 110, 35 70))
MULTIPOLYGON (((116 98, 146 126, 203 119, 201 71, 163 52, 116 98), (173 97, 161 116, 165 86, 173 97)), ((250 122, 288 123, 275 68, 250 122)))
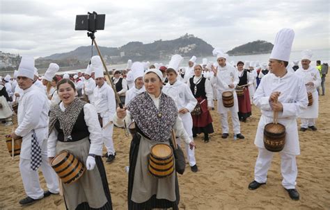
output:
POLYGON ((313 96, 313 104, 308 106, 307 109, 299 114, 301 119, 301 131, 306 131, 308 128, 315 131, 315 119, 317 119, 319 114, 319 96, 317 94, 317 87, 321 85, 321 76, 320 72, 315 68, 311 67, 311 60, 313 53, 311 50, 302 51, 301 58, 301 69, 295 71, 295 74, 304 80, 306 89, 308 92, 311 92, 313 96))

